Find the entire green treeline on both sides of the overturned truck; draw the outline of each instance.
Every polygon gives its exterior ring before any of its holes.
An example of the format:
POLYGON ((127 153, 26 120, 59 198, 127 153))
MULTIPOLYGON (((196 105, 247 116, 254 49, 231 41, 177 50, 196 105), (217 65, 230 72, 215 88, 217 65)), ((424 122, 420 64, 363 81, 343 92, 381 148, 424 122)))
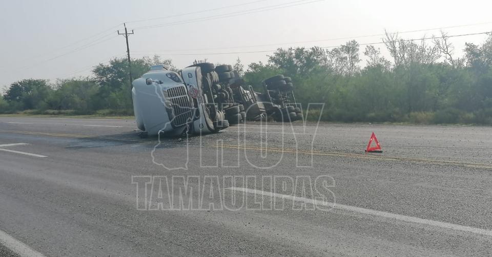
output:
MULTIPOLYGON (((280 48, 266 63, 244 68, 238 59, 234 67, 259 92, 265 78, 292 77, 297 102, 324 103, 325 121, 492 124, 492 36, 466 44, 461 57, 445 34, 417 42, 388 33, 383 41, 391 58, 366 46, 365 65, 352 40, 331 50, 280 48)), ((132 59, 133 77, 156 63, 176 70, 171 60, 144 57, 132 59)), ((126 59, 115 58, 90 77, 14 82, 0 98, 0 112, 132 115, 129 85, 126 59)))

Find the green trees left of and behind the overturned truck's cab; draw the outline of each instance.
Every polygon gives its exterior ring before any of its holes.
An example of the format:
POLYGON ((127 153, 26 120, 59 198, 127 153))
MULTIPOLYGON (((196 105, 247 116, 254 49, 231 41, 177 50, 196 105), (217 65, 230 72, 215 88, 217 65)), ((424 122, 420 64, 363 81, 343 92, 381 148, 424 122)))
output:
MULTIPOLYGON (((176 70, 170 60, 144 57, 132 60, 135 78, 155 63, 176 70)), ((101 114, 133 115, 128 61, 112 59, 99 64, 91 77, 58 79, 24 79, 14 82, 0 98, 0 113, 27 111, 32 114, 101 114)))

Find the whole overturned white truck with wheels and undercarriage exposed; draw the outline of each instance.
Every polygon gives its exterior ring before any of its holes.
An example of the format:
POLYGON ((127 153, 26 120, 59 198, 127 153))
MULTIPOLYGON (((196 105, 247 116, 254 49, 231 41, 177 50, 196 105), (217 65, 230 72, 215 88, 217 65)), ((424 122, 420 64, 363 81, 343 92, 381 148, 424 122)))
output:
POLYGON ((162 65, 132 82, 141 137, 216 133, 245 120, 302 119, 292 81, 277 75, 262 81, 264 93, 246 85, 230 65, 195 62, 178 73, 162 65))

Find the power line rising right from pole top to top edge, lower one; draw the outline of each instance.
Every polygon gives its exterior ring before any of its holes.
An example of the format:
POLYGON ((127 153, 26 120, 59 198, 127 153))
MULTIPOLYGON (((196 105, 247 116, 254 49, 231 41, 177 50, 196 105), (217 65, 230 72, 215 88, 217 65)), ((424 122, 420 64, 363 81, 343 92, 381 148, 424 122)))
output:
POLYGON ((188 23, 194 23, 194 22, 203 22, 205 20, 212 20, 212 19, 219 19, 219 18, 227 18, 227 17, 235 17, 235 16, 244 15, 244 14, 252 14, 252 13, 257 13, 257 12, 265 12, 265 11, 278 10, 278 9, 288 8, 288 7, 293 7, 293 6, 312 4, 312 3, 321 2, 321 1, 324 1, 324 0, 314 0, 314 1, 310 1, 310 2, 306 2, 306 1, 309 1, 309 0, 299 0, 299 1, 289 2, 289 3, 279 4, 279 5, 272 5, 272 6, 267 6, 267 7, 254 8, 254 9, 250 9, 250 10, 244 10, 244 11, 237 11, 237 12, 220 14, 220 15, 214 15, 214 16, 201 17, 201 18, 196 18, 196 19, 191 19, 191 20, 185 20, 185 21, 180 21, 180 22, 173 22, 173 23, 165 23, 165 24, 158 24, 158 25, 142 26, 142 27, 136 27, 134 29, 135 30, 137 30, 137 29, 153 29, 153 28, 160 28, 160 27, 166 27, 166 26, 188 24, 188 23), (288 5, 288 6, 285 6, 285 5, 288 5))

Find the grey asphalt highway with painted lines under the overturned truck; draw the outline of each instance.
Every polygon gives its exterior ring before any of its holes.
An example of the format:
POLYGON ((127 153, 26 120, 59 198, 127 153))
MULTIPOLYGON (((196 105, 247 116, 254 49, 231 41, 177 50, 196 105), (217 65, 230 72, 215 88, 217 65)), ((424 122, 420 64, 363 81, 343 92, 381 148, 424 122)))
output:
POLYGON ((492 255, 491 154, 479 126, 247 123, 141 139, 133 120, 1 117, 0 255, 492 255), (372 132, 383 153, 364 153, 372 132), (185 199, 202 205, 179 209, 172 176, 199 177, 185 199), (220 185, 230 176, 252 179, 220 185))

